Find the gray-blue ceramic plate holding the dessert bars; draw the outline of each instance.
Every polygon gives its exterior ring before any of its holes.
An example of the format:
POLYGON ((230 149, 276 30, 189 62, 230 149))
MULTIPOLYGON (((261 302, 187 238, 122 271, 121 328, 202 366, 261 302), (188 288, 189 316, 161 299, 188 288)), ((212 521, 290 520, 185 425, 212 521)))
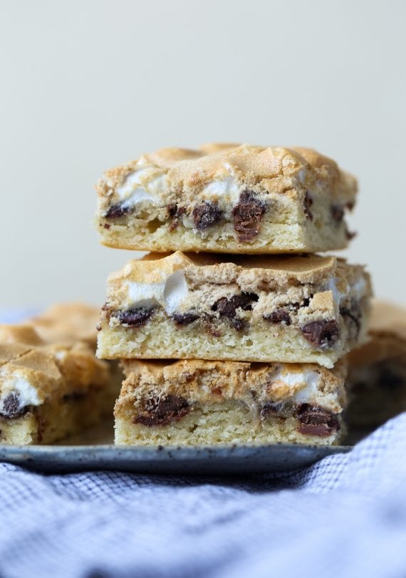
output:
POLYGON ((71 438, 70 445, 0 445, 0 461, 42 472, 123 470, 150 474, 249 475, 296 470, 326 455, 351 449, 345 445, 323 448, 288 444, 129 447, 113 445, 110 437, 106 430, 104 433, 96 430, 80 439, 71 438))

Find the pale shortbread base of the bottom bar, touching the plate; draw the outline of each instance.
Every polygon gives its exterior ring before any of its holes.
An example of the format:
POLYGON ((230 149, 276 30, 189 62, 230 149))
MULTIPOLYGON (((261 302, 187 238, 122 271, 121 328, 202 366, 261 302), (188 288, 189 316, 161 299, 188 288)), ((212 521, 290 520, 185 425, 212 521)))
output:
POLYGON ((337 444, 345 433, 343 426, 332 435, 303 435, 296 431, 297 420, 253 420, 249 408, 235 401, 199 405, 189 415, 170 425, 149 428, 132 423, 132 412, 115 418, 117 445, 217 445, 306 443, 337 444))

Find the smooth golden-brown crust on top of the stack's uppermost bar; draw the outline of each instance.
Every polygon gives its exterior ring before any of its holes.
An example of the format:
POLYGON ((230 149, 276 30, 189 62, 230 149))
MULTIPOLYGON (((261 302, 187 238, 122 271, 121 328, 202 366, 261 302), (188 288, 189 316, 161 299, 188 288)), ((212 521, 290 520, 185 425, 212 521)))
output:
POLYGON ((98 190, 113 190, 123 185, 135 170, 148 167, 145 179, 166 175, 167 190, 195 194, 214 180, 231 175, 246 185, 275 192, 289 192, 295 187, 312 187, 314 182, 326 185, 334 196, 353 201, 355 178, 338 168, 334 160, 309 148, 260 147, 254 145, 222 145, 212 143, 196 150, 163 148, 142 155, 105 172, 98 190))

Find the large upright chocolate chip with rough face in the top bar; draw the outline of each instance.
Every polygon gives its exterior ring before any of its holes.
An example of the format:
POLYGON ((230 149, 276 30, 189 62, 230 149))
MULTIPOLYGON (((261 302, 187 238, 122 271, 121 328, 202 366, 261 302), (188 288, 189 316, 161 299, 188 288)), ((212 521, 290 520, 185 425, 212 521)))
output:
POLYGON ((255 192, 241 192, 238 205, 233 208, 234 229, 240 243, 251 241, 259 234, 265 210, 265 203, 256 198, 255 192))

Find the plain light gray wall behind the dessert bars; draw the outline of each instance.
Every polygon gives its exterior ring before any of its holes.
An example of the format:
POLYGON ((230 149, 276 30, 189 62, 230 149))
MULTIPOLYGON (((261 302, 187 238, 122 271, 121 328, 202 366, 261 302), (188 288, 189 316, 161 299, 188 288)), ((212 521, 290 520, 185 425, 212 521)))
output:
POLYGON ((358 175, 348 257, 406 303, 405 2, 0 7, 0 306, 103 301, 132 254, 99 246, 93 183, 210 140, 313 146, 358 175))

